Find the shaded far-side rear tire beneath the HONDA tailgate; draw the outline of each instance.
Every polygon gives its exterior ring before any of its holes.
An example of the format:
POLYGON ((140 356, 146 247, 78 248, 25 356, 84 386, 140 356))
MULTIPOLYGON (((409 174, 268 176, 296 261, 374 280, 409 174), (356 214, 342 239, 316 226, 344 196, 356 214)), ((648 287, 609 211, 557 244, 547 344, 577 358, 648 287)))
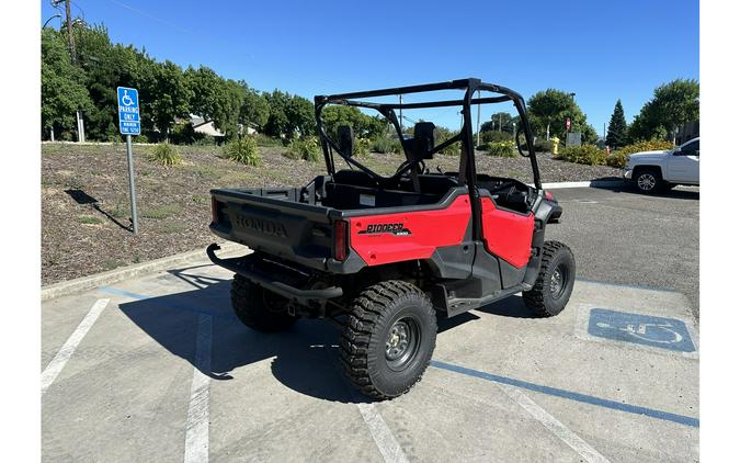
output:
POLYGON ((288 329, 296 317, 287 313, 288 301, 252 283, 240 274, 231 282, 231 307, 247 327, 262 332, 288 329))

